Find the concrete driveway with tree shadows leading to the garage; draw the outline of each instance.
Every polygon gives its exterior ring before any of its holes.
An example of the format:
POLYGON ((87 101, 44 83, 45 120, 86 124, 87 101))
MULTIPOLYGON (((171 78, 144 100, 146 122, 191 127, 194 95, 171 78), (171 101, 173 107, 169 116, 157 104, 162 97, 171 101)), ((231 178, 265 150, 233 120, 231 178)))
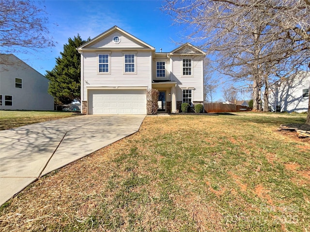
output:
POLYGON ((137 132, 144 117, 85 115, 0 131, 0 205, 39 177, 137 132))

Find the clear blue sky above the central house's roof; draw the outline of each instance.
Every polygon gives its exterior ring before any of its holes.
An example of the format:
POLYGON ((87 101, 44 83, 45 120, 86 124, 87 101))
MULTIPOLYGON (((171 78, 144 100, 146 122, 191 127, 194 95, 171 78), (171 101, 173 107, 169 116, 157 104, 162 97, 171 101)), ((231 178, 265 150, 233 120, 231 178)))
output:
MULTIPOLYGON (((190 42, 182 35, 184 27, 173 24, 171 16, 161 10, 162 0, 46 0, 36 4, 46 7, 47 27, 56 46, 15 55, 43 75, 53 69, 69 37, 80 34, 84 40, 92 39, 115 25, 154 46, 157 52, 160 48, 169 52, 190 42)), ((214 101, 221 95, 219 87, 214 101)))

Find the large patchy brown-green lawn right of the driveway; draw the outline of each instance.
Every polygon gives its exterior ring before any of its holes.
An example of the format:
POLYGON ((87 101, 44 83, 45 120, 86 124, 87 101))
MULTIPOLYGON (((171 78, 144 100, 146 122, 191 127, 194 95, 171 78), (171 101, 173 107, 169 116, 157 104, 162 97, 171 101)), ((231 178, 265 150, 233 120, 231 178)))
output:
POLYGON ((31 184, 3 231, 310 231, 306 116, 146 117, 140 131, 31 184))

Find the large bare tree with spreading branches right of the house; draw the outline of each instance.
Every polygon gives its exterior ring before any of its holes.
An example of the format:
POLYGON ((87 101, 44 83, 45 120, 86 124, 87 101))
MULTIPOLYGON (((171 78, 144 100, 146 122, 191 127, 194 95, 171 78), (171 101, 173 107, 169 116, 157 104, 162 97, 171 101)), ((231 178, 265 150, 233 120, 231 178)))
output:
POLYGON ((309 0, 175 0, 164 9, 189 26, 188 38, 216 55, 219 72, 252 82, 254 110, 271 78, 309 63, 309 0))

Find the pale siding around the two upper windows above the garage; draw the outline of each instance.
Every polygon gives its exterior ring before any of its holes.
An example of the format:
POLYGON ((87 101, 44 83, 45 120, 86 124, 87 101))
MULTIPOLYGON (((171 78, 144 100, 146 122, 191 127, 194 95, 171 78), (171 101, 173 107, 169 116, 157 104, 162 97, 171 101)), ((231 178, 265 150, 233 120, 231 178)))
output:
MULTIPOLYGON (((97 73, 96 52, 83 54, 83 100, 86 101, 87 87, 148 87, 152 85, 151 51, 139 51, 136 55, 137 73, 124 73, 124 54, 126 52, 112 51, 110 55, 110 74, 97 73)), ((101 53, 100 53, 101 54, 101 53)), ((102 52, 104 54, 104 52, 102 52)), ((130 52, 128 52, 130 54, 130 52)))

